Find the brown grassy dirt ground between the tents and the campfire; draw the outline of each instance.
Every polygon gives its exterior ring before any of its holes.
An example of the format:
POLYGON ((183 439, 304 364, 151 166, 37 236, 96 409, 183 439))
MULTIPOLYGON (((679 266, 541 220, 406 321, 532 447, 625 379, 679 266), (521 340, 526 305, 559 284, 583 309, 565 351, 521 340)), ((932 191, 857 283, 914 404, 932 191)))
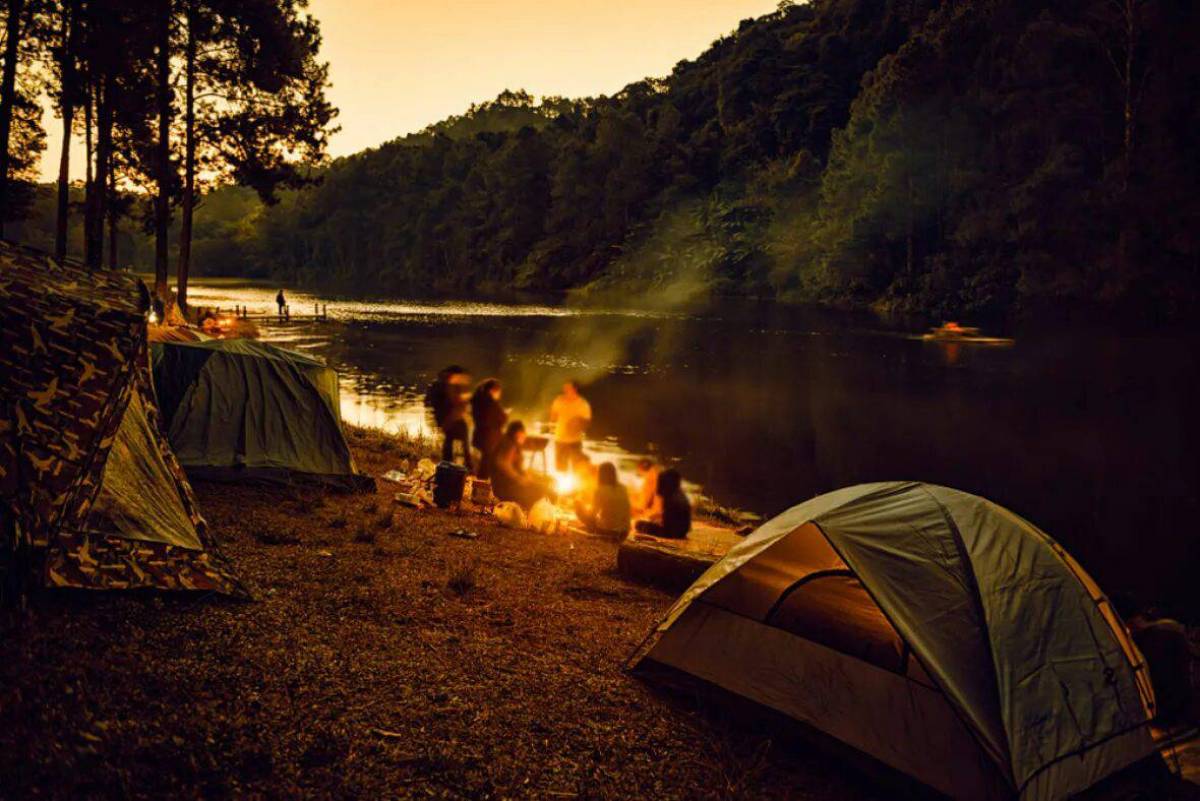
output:
POLYGON ((672 598, 611 542, 394 513, 386 482, 197 492, 256 600, 35 598, 0 633, 0 796, 896 797, 626 674, 672 598))

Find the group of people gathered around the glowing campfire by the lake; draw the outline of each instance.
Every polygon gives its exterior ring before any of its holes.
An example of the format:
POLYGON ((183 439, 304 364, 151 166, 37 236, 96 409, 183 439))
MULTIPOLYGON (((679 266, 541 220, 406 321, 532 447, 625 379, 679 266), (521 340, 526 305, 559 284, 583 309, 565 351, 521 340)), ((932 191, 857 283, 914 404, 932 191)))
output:
MULTIPOLYGON (((528 433, 520 420, 509 420, 500 404, 503 386, 488 378, 474 390, 470 374, 457 365, 443 369, 430 385, 425 404, 442 430, 442 458, 455 460, 456 445, 463 465, 492 482, 499 500, 515 501, 526 510, 542 498, 553 498, 548 476, 526 470, 528 433), (468 415, 474 422, 470 434, 468 415), (476 464, 473 453, 478 451, 476 464)), ((641 486, 630 496, 611 462, 594 465, 583 452, 583 438, 592 424, 592 405, 569 380, 550 406, 554 427, 554 468, 577 481, 575 512, 596 534, 625 536, 631 528, 660 537, 686 537, 691 530, 691 504, 678 470, 662 469, 650 459, 638 463, 641 486)))

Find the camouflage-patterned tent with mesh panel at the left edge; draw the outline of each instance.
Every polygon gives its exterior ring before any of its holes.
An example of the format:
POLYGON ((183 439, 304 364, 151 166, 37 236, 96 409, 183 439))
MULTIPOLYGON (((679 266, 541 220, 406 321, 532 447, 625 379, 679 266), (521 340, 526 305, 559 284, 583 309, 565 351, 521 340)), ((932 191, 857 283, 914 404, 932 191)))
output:
POLYGON ((242 595, 157 428, 133 276, 0 242, 0 565, 48 586, 242 595))

